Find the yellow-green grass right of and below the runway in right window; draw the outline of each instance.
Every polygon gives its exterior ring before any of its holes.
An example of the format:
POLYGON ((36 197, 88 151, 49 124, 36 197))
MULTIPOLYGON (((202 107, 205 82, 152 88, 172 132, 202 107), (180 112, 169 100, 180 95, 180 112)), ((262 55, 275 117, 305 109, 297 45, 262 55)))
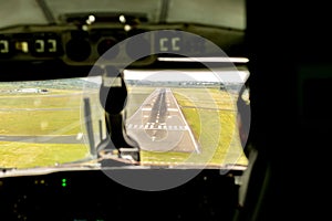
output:
POLYGON ((143 151, 143 162, 210 166, 248 164, 236 129, 232 95, 216 88, 173 88, 173 92, 200 144, 201 152, 143 151))

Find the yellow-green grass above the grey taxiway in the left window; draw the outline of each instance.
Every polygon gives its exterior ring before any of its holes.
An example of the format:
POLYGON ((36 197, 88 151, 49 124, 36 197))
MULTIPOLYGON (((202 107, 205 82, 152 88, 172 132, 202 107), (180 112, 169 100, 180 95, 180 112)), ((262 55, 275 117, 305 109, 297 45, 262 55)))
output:
MULTIPOLYGON (((0 97, 0 135, 76 135, 82 131, 83 95, 63 94, 0 97), (59 96, 58 96, 59 95, 59 96)), ((58 92, 59 93, 59 92, 58 92)), ((97 94, 91 103, 97 105, 97 94)))

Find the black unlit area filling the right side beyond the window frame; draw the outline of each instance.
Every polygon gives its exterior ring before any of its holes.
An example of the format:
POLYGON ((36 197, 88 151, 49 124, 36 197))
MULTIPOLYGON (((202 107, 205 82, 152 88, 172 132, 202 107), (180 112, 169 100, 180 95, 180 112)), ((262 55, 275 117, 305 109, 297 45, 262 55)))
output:
POLYGON ((323 1, 247 1, 250 140, 258 155, 237 221, 329 217, 329 14, 323 1))

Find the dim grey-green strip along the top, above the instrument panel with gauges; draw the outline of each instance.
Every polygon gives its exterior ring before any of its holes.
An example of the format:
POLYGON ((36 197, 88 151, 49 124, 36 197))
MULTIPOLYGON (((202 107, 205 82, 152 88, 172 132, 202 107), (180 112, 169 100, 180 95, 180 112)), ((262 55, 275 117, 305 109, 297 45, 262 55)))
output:
POLYGON ((199 23, 245 30, 245 0, 1 0, 0 27, 61 23, 68 13, 141 13, 148 23, 199 23), (14 12, 14 13, 13 13, 14 12))

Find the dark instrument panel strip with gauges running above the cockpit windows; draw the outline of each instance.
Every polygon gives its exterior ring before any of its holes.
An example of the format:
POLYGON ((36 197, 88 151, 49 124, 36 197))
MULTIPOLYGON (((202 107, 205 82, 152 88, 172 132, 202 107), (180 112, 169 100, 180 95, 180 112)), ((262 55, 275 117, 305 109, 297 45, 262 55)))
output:
MULTIPOLYGON (((153 64, 157 54, 177 56, 186 52, 188 56, 199 57, 218 54, 216 49, 209 46, 209 40, 181 35, 181 30, 185 29, 180 24, 139 28, 114 23, 11 27, 0 30, 0 62, 59 60, 66 65, 80 66, 94 65, 102 56, 110 64, 134 60, 133 65, 142 66, 153 64), (165 31, 151 32, 158 30, 165 31), (139 42, 137 39, 131 42, 129 38, 137 34, 141 34, 139 42), (120 45, 125 40, 125 44, 120 45), (106 55, 110 49, 113 49, 112 54, 106 55), (151 56, 136 61, 136 53, 142 50, 151 56)), ((195 34, 193 30, 189 32, 195 34)), ((222 48, 219 42, 216 44, 222 48)))

